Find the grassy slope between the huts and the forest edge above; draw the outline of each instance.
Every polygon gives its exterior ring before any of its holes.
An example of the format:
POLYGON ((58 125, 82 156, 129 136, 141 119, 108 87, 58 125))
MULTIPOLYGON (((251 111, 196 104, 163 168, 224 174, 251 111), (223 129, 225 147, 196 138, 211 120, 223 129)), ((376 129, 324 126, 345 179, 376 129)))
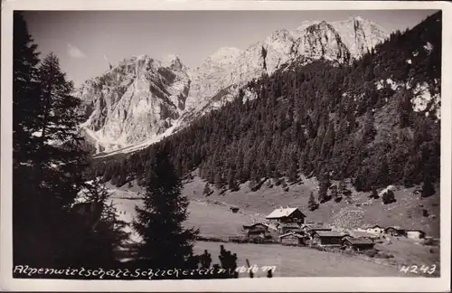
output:
POLYGON ((412 194, 414 188, 400 189, 394 192, 397 203, 385 205, 381 203, 381 199, 369 200, 369 193, 353 192, 352 204, 344 201, 341 203, 330 201, 321 204, 318 210, 310 212, 306 208, 307 199, 310 191, 315 191, 318 185, 313 178, 302 179, 303 184, 289 186, 288 192, 284 192, 281 186, 268 188, 266 184, 263 184, 259 191, 252 192, 248 184, 242 184, 237 192, 228 191, 220 194, 216 191, 206 198, 202 195, 205 182, 195 176, 193 181, 184 185, 184 194, 192 200, 228 204, 240 207, 241 210, 249 213, 259 213, 259 216, 254 216, 260 219, 279 206, 289 205, 299 207, 306 214, 307 221, 333 224, 341 222, 338 218, 343 218, 346 211, 352 211, 361 217, 359 226, 374 223, 382 226, 399 225, 407 229, 420 229, 433 237, 439 236, 439 194, 419 200, 419 196, 412 194), (422 215, 422 209, 428 210, 429 217, 422 215))

